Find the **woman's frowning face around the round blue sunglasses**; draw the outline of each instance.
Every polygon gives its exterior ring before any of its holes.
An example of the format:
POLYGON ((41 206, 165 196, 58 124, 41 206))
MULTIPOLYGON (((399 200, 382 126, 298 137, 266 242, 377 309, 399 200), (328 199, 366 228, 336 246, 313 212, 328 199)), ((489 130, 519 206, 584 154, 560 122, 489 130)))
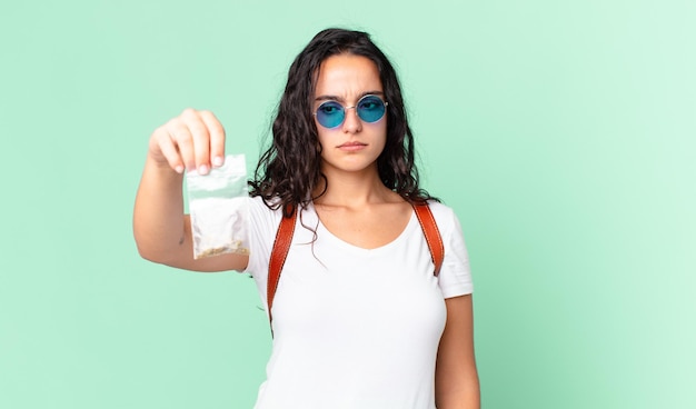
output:
MULTIPOLYGON (((366 57, 338 54, 327 58, 319 68, 312 112, 322 102, 336 101, 342 107, 356 107, 358 101, 374 94, 384 100, 377 66, 366 57)), ((377 171, 377 158, 387 140, 387 113, 375 122, 361 120, 355 108, 345 111, 345 120, 335 128, 315 123, 321 144, 322 171, 377 171)))

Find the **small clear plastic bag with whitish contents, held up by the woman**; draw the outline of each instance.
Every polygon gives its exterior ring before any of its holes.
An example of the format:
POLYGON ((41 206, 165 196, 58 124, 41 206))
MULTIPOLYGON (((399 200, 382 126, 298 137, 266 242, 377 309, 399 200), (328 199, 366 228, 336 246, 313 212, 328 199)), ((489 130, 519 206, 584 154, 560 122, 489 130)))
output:
POLYGON ((193 236, 193 258, 248 255, 247 164, 243 154, 229 154, 206 176, 186 174, 193 236))

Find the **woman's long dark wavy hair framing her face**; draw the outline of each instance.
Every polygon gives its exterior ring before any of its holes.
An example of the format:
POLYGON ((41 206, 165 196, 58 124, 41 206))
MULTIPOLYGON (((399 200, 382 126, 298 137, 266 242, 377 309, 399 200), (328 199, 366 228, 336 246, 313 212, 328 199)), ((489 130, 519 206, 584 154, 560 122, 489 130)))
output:
POLYGON ((394 67, 366 32, 326 29, 311 39, 290 66, 272 123, 272 144, 259 159, 255 179, 249 181, 252 197, 262 197, 271 209, 282 207, 287 216, 297 206, 306 208, 316 199, 312 194, 322 180, 328 184, 321 173, 321 146, 311 108, 321 62, 344 53, 366 57, 377 66, 384 98, 389 102, 387 142, 377 159, 382 183, 409 202, 435 199, 418 186, 414 136, 394 67))

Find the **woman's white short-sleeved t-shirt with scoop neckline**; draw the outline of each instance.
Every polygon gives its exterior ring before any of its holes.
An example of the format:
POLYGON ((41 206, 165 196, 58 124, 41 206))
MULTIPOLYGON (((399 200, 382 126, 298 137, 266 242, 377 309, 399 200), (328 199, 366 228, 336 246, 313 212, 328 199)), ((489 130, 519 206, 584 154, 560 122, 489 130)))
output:
MULTIPOLYGON (((249 203, 247 272, 267 307, 281 211, 258 197, 249 203)), ((314 207, 301 211, 274 300, 272 353, 257 409, 435 408, 444 299, 473 285, 457 217, 441 203, 430 209, 445 243, 439 277, 415 213, 396 240, 367 250, 331 235, 314 207)))

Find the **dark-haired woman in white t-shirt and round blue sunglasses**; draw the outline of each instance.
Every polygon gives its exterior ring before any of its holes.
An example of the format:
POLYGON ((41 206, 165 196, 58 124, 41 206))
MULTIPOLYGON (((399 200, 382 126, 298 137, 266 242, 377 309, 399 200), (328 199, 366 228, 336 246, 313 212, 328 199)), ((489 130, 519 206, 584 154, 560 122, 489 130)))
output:
POLYGON ((181 173, 220 166, 225 131, 191 109, 158 128, 135 208, 141 256, 248 271, 266 303, 274 239, 284 210, 297 208, 257 408, 478 408, 459 223, 418 186, 397 76, 368 34, 329 29, 310 41, 290 67, 272 132, 250 182, 250 255, 195 260, 181 173), (424 202, 445 243, 438 277, 414 216, 424 202))

